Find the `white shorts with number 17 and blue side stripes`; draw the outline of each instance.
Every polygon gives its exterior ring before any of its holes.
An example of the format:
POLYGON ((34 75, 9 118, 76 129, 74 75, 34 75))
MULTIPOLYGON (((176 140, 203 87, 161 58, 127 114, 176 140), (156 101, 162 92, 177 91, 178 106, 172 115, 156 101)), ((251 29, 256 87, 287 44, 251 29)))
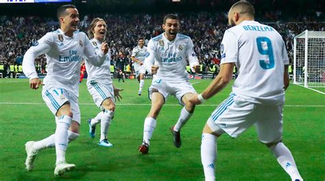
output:
POLYGON ((72 120, 77 121, 79 124, 81 123, 78 97, 73 92, 58 86, 43 86, 42 97, 49 110, 55 116, 61 106, 69 102, 73 114, 72 120))

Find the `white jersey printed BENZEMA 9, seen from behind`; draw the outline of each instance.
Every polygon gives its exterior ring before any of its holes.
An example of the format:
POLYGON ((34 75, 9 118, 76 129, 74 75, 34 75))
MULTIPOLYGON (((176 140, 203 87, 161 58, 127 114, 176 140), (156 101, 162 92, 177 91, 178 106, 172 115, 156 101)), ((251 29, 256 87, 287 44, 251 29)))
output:
POLYGON ((239 69, 233 93, 256 103, 284 101, 283 75, 289 58, 282 37, 273 27, 243 21, 227 29, 221 43, 221 64, 229 62, 239 69))

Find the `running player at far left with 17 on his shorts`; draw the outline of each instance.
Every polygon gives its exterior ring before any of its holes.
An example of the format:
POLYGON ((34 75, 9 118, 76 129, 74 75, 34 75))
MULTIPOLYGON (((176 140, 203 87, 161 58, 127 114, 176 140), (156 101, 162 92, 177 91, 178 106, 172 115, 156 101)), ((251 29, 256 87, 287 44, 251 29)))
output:
POLYGON ((47 107, 56 116, 56 132, 41 141, 28 141, 25 144, 26 169, 31 171, 36 154, 41 149, 56 147, 55 175, 62 175, 74 169, 75 165, 65 160, 68 141, 79 136, 80 109, 78 106, 80 62, 86 56, 88 62, 100 66, 105 60, 108 45, 103 43, 99 54, 95 53, 86 34, 77 31, 80 22, 79 12, 74 5, 62 5, 57 12, 60 29, 49 32, 30 47, 23 59, 23 72, 29 78, 33 89, 42 82, 35 71, 34 60, 41 54, 48 62, 47 76, 44 79, 42 96, 47 107))

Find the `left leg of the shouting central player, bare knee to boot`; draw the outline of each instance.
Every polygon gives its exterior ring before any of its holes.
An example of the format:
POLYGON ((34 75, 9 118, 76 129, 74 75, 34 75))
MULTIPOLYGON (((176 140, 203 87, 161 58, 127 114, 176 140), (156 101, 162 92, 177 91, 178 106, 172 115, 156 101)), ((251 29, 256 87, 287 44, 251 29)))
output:
POLYGON ((156 118, 165 104, 165 97, 161 93, 158 93, 158 90, 153 90, 151 99, 152 107, 147 114, 143 125, 143 143, 139 146, 139 151, 142 154, 147 154, 149 151, 150 139, 152 138, 152 134, 156 128, 156 118))

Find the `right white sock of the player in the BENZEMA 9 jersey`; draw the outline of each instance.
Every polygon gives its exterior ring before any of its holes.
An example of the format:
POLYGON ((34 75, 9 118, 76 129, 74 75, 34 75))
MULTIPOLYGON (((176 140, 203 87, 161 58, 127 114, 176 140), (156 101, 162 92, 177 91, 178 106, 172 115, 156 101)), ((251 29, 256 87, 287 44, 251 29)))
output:
POLYGON ((278 163, 283 169, 285 169, 292 180, 303 180, 297 169, 296 162, 293 160, 293 156, 285 144, 280 142, 276 145, 272 145, 269 147, 269 149, 271 149, 274 156, 276 157, 276 160, 278 160, 278 163))

